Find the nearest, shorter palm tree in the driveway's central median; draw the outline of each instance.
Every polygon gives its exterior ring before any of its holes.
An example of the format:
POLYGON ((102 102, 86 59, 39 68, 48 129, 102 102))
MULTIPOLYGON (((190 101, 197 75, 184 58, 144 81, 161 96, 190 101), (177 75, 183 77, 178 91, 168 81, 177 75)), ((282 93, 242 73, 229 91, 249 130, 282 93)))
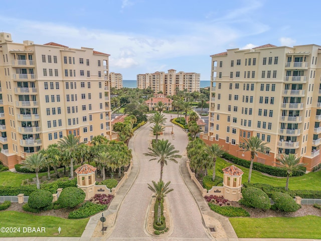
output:
POLYGON ((171 184, 171 181, 169 181, 168 183, 166 183, 164 185, 164 182, 162 180, 159 180, 157 183, 155 181, 151 181, 152 185, 147 184, 149 190, 151 190, 155 195, 153 195, 153 197, 155 197, 158 201, 158 207, 157 207, 157 221, 156 224, 157 225, 161 225, 162 221, 161 221, 161 216, 162 216, 162 210, 161 210, 161 202, 164 199, 164 197, 166 197, 166 195, 170 192, 172 192, 174 189, 171 188, 169 189, 169 185, 171 184))

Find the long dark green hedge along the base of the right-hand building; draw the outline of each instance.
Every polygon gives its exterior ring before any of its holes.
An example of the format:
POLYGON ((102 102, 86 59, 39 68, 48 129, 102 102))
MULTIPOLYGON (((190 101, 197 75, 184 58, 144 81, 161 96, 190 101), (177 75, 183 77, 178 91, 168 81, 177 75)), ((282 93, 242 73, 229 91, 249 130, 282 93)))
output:
MULTIPOLYGON (((228 153, 224 153, 222 158, 229 160, 231 162, 233 162, 236 165, 240 165, 246 168, 250 167, 251 162, 235 157, 231 154, 228 153)), ((280 168, 280 167, 273 167, 273 166, 269 166, 269 165, 265 165, 262 163, 258 163, 258 162, 253 162, 253 170, 259 171, 259 172, 263 172, 272 176, 276 176, 276 177, 286 177, 287 173, 286 170, 284 168, 280 168)), ((305 167, 300 167, 299 170, 295 170, 293 171, 292 176, 296 177, 296 176, 302 176, 304 175, 306 171, 305 167)))

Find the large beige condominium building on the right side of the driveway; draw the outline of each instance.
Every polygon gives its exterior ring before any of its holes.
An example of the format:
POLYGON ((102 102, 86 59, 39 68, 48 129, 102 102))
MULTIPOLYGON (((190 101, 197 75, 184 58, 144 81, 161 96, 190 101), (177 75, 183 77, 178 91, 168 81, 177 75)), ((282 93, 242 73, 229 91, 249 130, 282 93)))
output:
POLYGON ((268 44, 211 57, 207 143, 250 160, 239 146, 257 136, 270 148, 260 163, 276 166, 276 158, 289 153, 301 157, 307 171, 321 163, 321 46, 268 44))

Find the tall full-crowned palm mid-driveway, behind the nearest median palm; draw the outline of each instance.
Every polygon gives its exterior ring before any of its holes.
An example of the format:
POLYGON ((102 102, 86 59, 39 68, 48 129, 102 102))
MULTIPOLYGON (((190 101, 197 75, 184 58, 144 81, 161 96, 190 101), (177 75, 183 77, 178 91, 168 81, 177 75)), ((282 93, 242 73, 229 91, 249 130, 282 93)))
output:
POLYGON ((148 148, 150 152, 144 153, 145 156, 153 157, 149 161, 157 160, 157 163, 161 163, 161 178, 163 180, 163 169, 164 165, 167 165, 168 161, 177 163, 177 158, 182 158, 181 155, 178 155, 180 151, 175 150, 175 147, 169 140, 159 140, 157 141, 152 148, 148 148))

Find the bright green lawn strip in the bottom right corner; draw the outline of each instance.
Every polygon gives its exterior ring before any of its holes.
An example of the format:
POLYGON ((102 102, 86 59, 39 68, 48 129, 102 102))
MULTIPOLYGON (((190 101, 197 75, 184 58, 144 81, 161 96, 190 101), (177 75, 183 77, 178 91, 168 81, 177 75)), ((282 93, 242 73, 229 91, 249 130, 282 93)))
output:
POLYGON ((239 238, 320 238, 321 217, 229 218, 239 238))

